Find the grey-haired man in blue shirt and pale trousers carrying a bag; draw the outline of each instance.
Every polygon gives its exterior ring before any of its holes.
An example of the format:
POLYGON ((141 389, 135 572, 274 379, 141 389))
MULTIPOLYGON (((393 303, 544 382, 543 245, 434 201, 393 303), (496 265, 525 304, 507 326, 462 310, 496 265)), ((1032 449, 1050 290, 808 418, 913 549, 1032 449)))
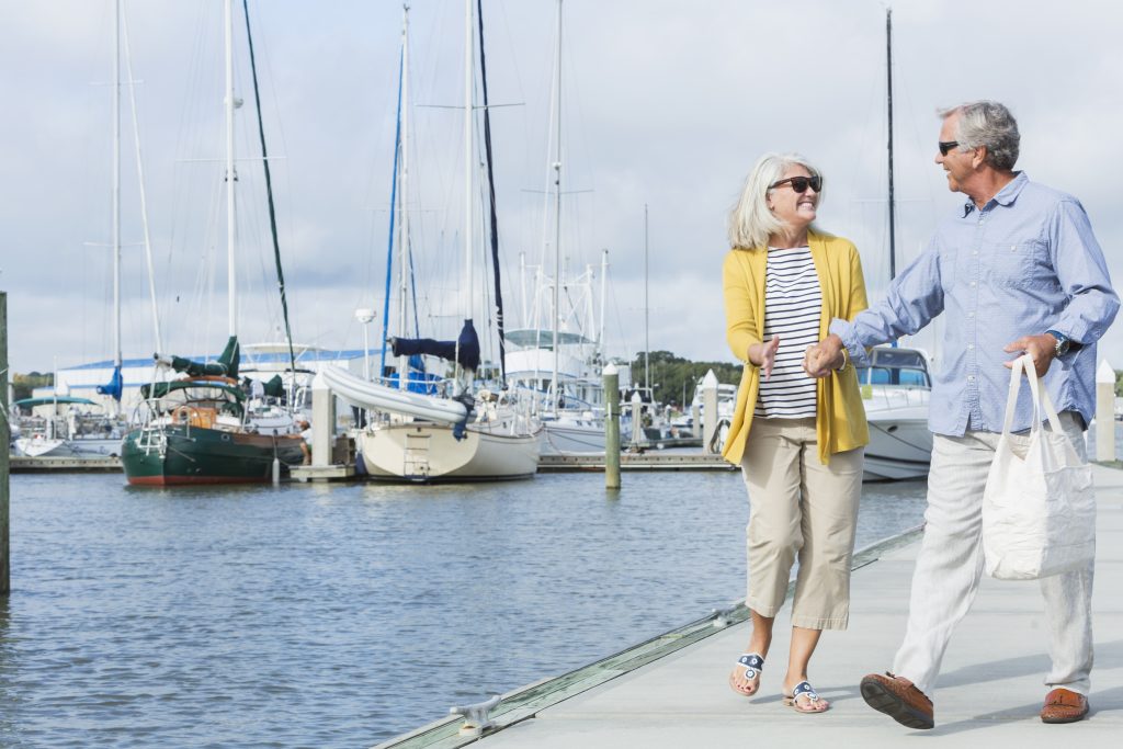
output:
MULTIPOLYGON (((1033 357, 1084 455, 1094 408, 1096 340, 1119 310, 1103 252, 1080 203, 1015 172, 1019 133, 1002 104, 979 101, 941 112, 935 163, 952 192, 967 195, 928 249, 889 286, 886 299, 807 351, 804 366, 825 376, 868 362, 866 348, 911 335, 946 313, 942 364, 932 387, 934 432, 924 540, 912 584, 909 627, 893 673, 861 682, 866 702, 910 728, 934 725, 932 701, 951 631, 970 608, 983 574, 982 503, 1002 432, 1007 368, 1033 357), (844 349, 844 350, 843 350, 844 349)), ((1023 389, 1015 431, 1030 427, 1023 389)), ((1047 723, 1088 712, 1093 567, 1041 581, 1052 668, 1041 710, 1047 723)), ((997 637, 997 633, 996 633, 997 637)))

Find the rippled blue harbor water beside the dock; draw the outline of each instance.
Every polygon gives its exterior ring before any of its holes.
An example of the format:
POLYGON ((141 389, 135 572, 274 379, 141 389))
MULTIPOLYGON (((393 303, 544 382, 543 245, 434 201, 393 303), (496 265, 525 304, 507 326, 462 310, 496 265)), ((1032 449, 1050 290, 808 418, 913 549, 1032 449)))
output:
MULTIPOLYGON (((738 474, 623 484, 12 476, 0 746, 367 747, 743 596, 738 474)), ((867 485, 858 546, 923 493, 867 485)))

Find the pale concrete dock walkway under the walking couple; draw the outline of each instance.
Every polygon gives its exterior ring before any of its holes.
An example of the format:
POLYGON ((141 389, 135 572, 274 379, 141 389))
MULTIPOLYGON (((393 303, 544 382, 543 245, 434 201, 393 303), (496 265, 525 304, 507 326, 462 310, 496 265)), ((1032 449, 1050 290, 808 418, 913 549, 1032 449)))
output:
POLYGON ((827 632, 811 681, 831 701, 822 715, 802 715, 779 696, 788 647, 788 609, 779 615, 757 697, 734 694, 727 675, 748 640, 738 624, 609 681, 496 733, 492 749, 618 747, 948 747, 1123 746, 1123 472, 1095 467, 1099 505, 1096 667, 1092 714, 1047 725, 1043 603, 1037 583, 985 578, 956 630, 934 692, 935 729, 912 731, 870 710, 858 693, 869 672, 884 672, 904 634, 919 544, 880 556, 853 573, 850 628, 827 632))

